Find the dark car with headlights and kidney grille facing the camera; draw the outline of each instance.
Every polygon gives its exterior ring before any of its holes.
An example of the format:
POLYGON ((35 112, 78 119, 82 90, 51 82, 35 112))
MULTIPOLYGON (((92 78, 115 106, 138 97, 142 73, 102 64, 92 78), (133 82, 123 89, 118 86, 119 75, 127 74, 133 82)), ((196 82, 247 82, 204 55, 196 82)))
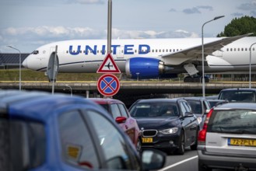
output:
POLYGON ((129 109, 142 131, 142 148, 184 154, 197 149, 197 117, 184 99, 142 99, 129 109))

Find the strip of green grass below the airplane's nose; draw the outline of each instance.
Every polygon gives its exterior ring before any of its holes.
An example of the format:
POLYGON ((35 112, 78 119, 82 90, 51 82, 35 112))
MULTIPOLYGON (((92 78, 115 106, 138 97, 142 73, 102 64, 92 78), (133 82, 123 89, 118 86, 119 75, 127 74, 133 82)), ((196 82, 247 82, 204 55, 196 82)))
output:
MULTIPOLYGON (((96 73, 58 73, 57 81, 97 81, 102 74, 96 73)), ((48 81, 44 72, 29 69, 21 70, 22 81, 48 81)), ((0 81, 18 81, 19 69, 0 69, 0 81)))

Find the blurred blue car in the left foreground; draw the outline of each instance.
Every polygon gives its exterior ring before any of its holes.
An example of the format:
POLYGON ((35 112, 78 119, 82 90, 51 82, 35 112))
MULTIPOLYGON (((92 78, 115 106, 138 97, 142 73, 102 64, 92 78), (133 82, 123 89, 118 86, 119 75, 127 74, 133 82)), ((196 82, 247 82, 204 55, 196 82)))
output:
POLYGON ((0 170, 146 170, 162 168, 165 155, 140 156, 89 99, 0 90, 0 159, 0 170))

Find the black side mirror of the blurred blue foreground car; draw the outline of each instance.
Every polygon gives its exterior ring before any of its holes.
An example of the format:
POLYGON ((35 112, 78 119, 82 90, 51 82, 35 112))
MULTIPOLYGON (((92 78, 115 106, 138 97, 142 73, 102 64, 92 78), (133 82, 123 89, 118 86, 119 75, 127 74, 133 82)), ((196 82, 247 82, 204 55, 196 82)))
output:
POLYGON ((166 161, 166 153, 156 149, 142 152, 142 170, 155 170, 163 168, 166 161))

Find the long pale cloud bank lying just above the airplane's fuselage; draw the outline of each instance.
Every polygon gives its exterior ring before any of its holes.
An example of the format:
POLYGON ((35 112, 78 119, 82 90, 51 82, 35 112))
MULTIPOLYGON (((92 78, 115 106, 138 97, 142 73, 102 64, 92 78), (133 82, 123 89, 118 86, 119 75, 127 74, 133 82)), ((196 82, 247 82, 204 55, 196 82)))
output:
MULTIPOLYGON (((185 30, 155 31, 155 30, 118 30, 112 28, 113 39, 132 38, 174 38, 174 37, 198 37, 195 33, 185 30)), ((107 39, 107 30, 94 30, 89 27, 65 27, 65 26, 37 26, 37 27, 9 27, 0 30, 0 49, 9 51, 6 45, 11 45, 29 53, 44 44, 60 40, 85 40, 107 39)))

